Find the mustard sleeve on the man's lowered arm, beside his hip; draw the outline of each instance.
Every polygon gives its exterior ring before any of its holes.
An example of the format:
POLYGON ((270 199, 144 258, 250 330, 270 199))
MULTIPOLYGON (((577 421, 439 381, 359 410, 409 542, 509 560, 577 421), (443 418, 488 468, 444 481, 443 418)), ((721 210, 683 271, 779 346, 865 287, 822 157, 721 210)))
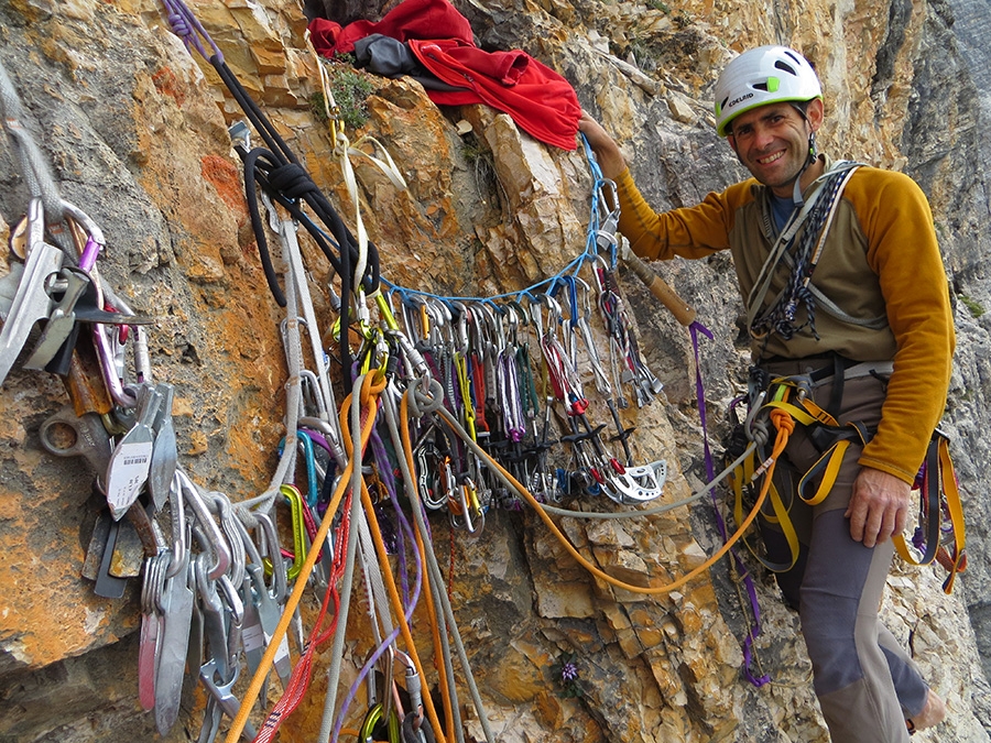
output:
POLYGON ((859 461, 911 483, 946 405, 952 312, 925 194, 901 173, 871 168, 868 175, 854 206, 897 350, 878 433, 859 461))

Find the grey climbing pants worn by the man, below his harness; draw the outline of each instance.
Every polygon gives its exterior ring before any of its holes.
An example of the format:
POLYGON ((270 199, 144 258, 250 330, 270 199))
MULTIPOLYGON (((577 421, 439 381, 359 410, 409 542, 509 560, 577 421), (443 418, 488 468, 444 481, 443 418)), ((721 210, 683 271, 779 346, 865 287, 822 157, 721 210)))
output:
MULTIPOLYGON (((767 369, 787 375, 805 373, 808 365, 777 362, 767 369)), ((830 379, 813 389, 813 400, 823 407, 830 400, 830 379)), ((846 380, 838 419, 862 420, 873 429, 881 419, 884 393, 884 381, 874 376, 846 380)), ((829 495, 809 506, 795 495, 796 485, 820 451, 807 429, 795 426, 774 482, 786 503, 792 499, 789 513, 801 551, 792 570, 778 575, 778 583, 786 600, 798 608, 816 697, 834 743, 902 743, 908 741, 905 720, 923 710, 928 687, 878 616, 892 542, 864 547, 852 539, 843 516, 861 470, 857 463, 861 450, 859 445, 847 449, 829 495)), ((769 557, 786 560, 788 548, 781 532, 766 524, 762 531, 769 557)))

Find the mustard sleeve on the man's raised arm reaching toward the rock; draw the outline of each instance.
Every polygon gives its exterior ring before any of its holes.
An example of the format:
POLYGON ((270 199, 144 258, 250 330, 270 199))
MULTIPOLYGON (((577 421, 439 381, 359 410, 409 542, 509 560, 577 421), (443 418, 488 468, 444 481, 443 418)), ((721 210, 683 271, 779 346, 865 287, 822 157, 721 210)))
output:
MULTIPOLYGON (((641 258, 705 258, 729 248, 734 209, 728 194, 709 194, 698 206, 657 214, 641 196, 629 168, 617 178, 619 231, 641 258)), ((737 187, 733 187, 737 189, 737 187)), ((731 189, 731 190, 733 190, 731 189)))

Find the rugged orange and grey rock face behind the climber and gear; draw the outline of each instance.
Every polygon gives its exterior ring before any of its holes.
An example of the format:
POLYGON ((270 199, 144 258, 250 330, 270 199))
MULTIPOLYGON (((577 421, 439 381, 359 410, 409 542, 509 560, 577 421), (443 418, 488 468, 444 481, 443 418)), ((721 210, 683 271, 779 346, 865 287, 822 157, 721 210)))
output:
MULTIPOLYGON (((334 142, 311 109, 319 84, 300 4, 189 3, 353 230, 356 205, 334 142)), ((455 4, 483 48, 522 48, 567 77, 581 105, 627 149, 657 208, 694 204, 742 176, 712 131, 708 94, 733 52, 778 41, 802 48, 823 77, 829 114, 821 146, 904 170, 922 184, 958 298, 946 428, 968 512, 970 560, 954 597, 939 590, 938 569, 896 566, 884 613, 951 710, 946 724, 919 737, 989 740, 991 514, 980 496, 991 391, 991 327, 983 314, 991 306, 983 267, 991 238, 981 229, 991 204, 982 175, 991 164, 983 125, 991 106, 981 34, 987 8, 965 0, 870 8, 808 0, 787 9, 708 1, 676 9, 598 0, 455 4), (727 47, 722 40, 733 42, 727 47)), ((382 9, 364 10, 379 17, 382 9)), ((242 118, 240 108, 151 0, 0 2, 0 62, 62 197, 106 233, 105 280, 155 318, 152 368, 156 380, 176 389, 183 468, 233 501, 253 498, 275 469, 286 369, 281 310, 261 271, 227 132, 242 118)), ((357 77, 371 92, 366 122, 348 134, 382 142, 409 185, 400 190, 367 159, 353 161, 362 219, 391 282, 488 297, 538 283, 581 251, 590 178, 580 147, 547 147, 487 107, 440 109, 411 80, 357 77)), ((29 194, 4 140, 0 228, 17 223, 29 194)), ((329 327, 329 265, 311 244, 304 253, 317 312, 329 327)), ((732 267, 725 256, 655 267, 717 338, 703 346, 701 371, 710 435, 718 438, 721 413, 745 369, 744 347, 734 345, 732 267)), ((653 404, 631 406, 623 416, 636 426, 635 461, 666 460, 664 502, 673 502, 704 478, 691 346, 635 278, 622 280, 646 362, 665 385, 653 404)), ((596 332, 601 340, 603 331, 596 332)), ((582 371, 591 387, 590 369, 582 371)), ((0 394, 0 544, 7 554, 0 562, 0 740, 155 740, 154 719, 137 700, 139 581, 130 581, 122 599, 109 600, 80 578, 102 496, 92 493, 85 460, 52 457, 40 445, 42 423, 66 401, 57 378, 20 369, 0 394)), ((590 414, 609 419, 600 401, 590 414)), ((567 517, 560 527, 602 570, 657 586, 718 548, 711 514, 701 502, 643 520, 567 517)), ((439 520, 434 542, 497 740, 828 740, 797 616, 769 578, 756 578, 763 625, 756 656, 773 682, 756 689, 740 673, 749 602, 741 604, 739 578, 726 560, 677 591, 645 596, 592 578, 530 511, 492 510, 487 522, 472 537, 439 520), (574 687, 559 678, 568 659, 579 670, 574 687)), ((346 664, 361 665, 372 644, 368 635, 360 629, 349 634, 346 664)), ((317 657, 325 668, 328 651, 317 657)), ((280 740, 316 735, 323 678, 318 670, 280 740)), ((187 691, 168 740, 195 739, 203 706, 202 690, 187 691)), ((476 712, 466 711, 466 724, 482 739, 476 712)))

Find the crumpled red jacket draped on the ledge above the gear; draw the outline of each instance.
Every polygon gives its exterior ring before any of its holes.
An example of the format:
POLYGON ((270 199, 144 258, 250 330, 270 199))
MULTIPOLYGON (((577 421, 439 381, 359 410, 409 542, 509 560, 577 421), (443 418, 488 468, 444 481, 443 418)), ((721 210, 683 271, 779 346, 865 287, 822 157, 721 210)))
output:
POLYGON ((427 90, 435 103, 487 103, 542 142, 564 150, 577 146, 581 107, 570 84, 525 52, 478 48, 468 20, 447 0, 405 0, 381 21, 347 26, 314 19, 309 33, 324 56, 351 52, 356 41, 373 33, 398 39, 433 75, 462 88, 427 90))

